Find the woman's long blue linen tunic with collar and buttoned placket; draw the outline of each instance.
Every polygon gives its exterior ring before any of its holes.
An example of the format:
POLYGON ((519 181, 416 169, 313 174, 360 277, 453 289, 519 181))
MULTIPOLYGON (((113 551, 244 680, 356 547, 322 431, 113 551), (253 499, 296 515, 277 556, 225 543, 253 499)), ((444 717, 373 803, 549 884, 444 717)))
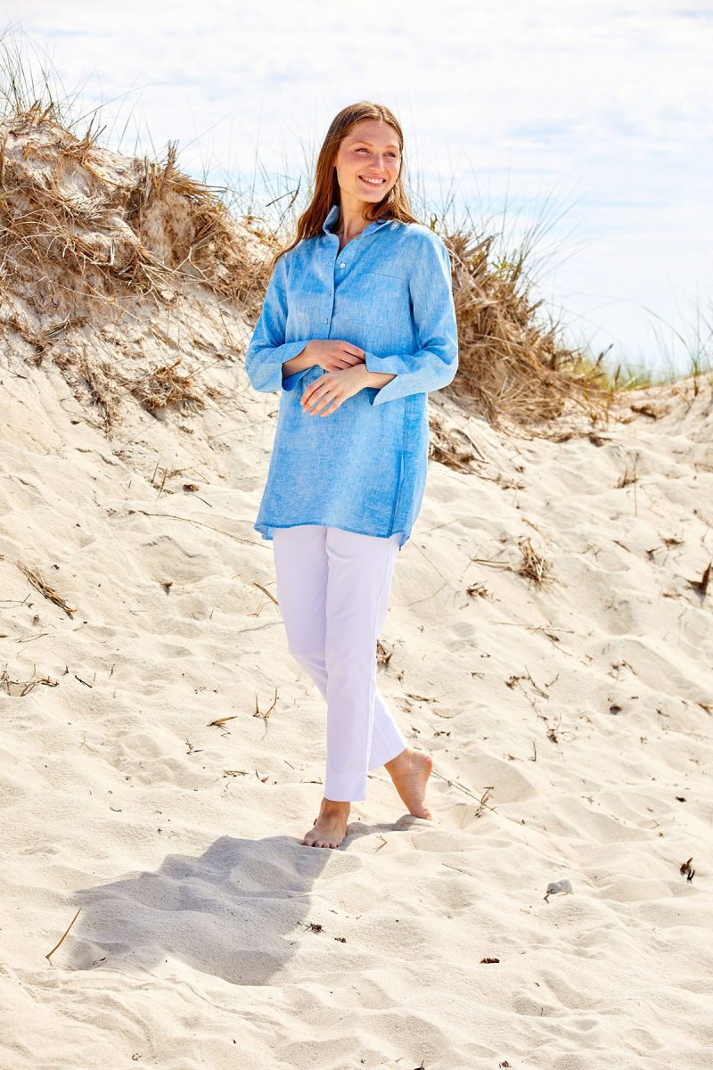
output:
POLYGON ((428 470, 428 392, 458 368, 451 263, 423 224, 376 219, 339 249, 331 230, 303 239, 280 257, 248 346, 245 367, 258 391, 280 391, 267 482, 253 528, 320 524, 409 538, 428 470), (300 406, 320 365, 282 378, 282 364, 312 338, 365 350, 369 371, 396 376, 367 386, 328 416, 300 406), (301 384, 300 389, 296 389, 301 384))

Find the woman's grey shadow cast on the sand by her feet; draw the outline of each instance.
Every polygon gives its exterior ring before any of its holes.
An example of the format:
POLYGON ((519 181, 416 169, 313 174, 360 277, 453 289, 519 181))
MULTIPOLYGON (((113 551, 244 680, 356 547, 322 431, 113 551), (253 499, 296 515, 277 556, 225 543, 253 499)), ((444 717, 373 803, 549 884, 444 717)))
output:
MULTIPOLYGON (((351 824, 348 841, 374 830, 351 824)), ((58 959, 67 969, 151 970, 172 957, 232 984, 265 984, 290 959, 288 936, 332 854, 286 836, 222 836, 199 858, 168 855, 156 873, 79 889, 81 913, 58 959)))

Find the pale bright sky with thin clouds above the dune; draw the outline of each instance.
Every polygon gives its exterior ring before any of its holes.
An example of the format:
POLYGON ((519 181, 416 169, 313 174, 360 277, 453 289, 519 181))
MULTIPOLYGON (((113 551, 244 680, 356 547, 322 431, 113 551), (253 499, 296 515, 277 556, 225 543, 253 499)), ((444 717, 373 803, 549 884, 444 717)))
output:
POLYGON ((80 134, 100 104, 100 143, 177 141, 259 211, 307 189, 337 111, 386 104, 415 214, 529 233, 563 340, 680 372, 710 337, 713 0, 0 0, 0 25, 80 134))

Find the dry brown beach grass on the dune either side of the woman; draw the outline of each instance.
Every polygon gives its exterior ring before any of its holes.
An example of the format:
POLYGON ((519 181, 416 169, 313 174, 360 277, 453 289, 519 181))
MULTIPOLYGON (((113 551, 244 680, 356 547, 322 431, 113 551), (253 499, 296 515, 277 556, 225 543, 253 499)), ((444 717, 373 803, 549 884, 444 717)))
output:
MULTIPOLYGON (((88 389, 107 429, 119 387, 150 409, 200 404, 201 395, 190 371, 179 370, 180 357, 143 370, 140 352, 127 351, 123 337, 109 366, 80 340, 122 320, 130 334, 136 302, 166 310, 188 291, 253 322, 280 242, 254 219, 230 218, 215 192, 179 170, 174 144, 160 165, 119 157, 63 128, 51 106, 40 104, 0 123, 0 218, 12 280, 5 328, 37 362, 47 354, 88 389)), ((605 414, 613 387, 602 369, 558 341, 556 326, 540 322, 522 257, 493 268, 492 238, 443 238, 453 261, 460 343, 449 391, 494 426, 531 427, 568 406, 593 421, 605 414)), ((445 462, 450 454, 458 462, 458 450, 448 448, 445 462)))

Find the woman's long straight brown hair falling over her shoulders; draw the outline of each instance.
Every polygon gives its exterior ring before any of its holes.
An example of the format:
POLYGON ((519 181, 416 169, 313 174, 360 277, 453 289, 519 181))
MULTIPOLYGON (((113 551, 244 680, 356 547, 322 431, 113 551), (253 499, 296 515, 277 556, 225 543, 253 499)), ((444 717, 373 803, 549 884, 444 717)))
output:
POLYGON ((388 123, 389 126, 392 126, 399 138, 399 153, 401 156, 401 167, 399 168, 397 181, 383 200, 369 205, 365 217, 371 223, 374 219, 381 219, 382 216, 386 216, 389 219, 399 219, 401 223, 419 221, 412 215, 408 195, 404 187, 403 131, 401 129, 399 120, 384 104, 372 104, 371 101, 359 101, 357 104, 348 104, 341 111, 337 112, 329 124, 329 129, 322 142, 320 155, 316 159, 312 200, 297 220, 297 232, 293 241, 290 245, 285 245, 284 248, 279 249, 273 257, 270 270, 275 268, 279 258, 283 254, 289 253, 290 249, 293 249, 303 238, 315 238, 322 233, 322 226, 327 213, 332 204, 339 204, 340 202, 339 181, 335 167, 339 147, 353 127, 363 119, 382 120, 388 123))

